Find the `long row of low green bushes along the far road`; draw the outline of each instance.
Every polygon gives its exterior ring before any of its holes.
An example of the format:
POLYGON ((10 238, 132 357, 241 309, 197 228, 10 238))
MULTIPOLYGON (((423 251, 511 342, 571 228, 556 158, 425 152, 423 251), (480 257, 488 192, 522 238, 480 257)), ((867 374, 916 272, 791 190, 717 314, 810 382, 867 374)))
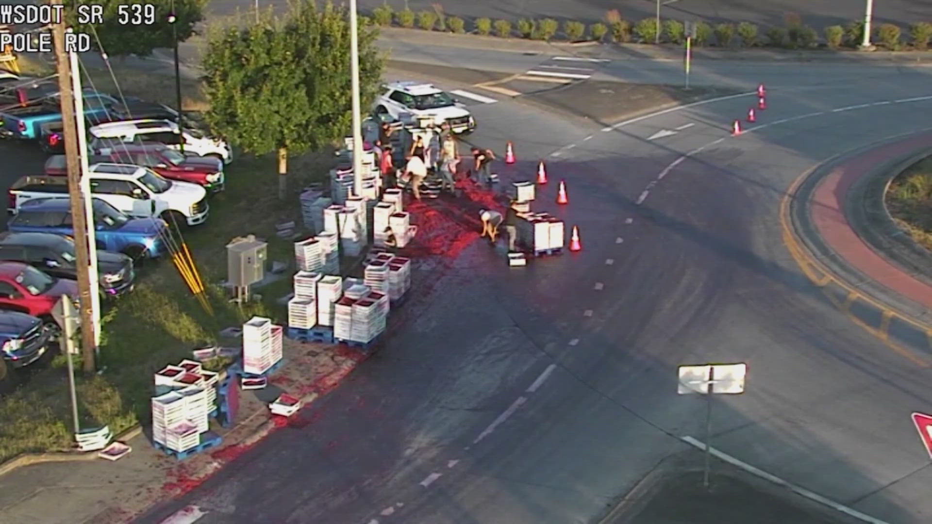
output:
MULTIPOLYGON (((480 18, 470 22, 459 17, 449 17, 443 7, 434 4, 432 10, 415 12, 411 9, 395 11, 391 6, 376 7, 372 21, 382 26, 397 25, 404 28, 419 28, 425 31, 444 31, 451 33, 494 34, 501 37, 518 36, 533 40, 552 40, 562 37, 570 42, 596 41, 606 39, 611 42, 640 42, 652 44, 658 40, 662 43, 682 44, 686 40, 686 27, 682 21, 664 20, 657 27, 656 19, 649 18, 632 23, 624 20, 617 9, 606 13, 604 22, 589 25, 581 21, 563 21, 554 19, 522 19, 516 23, 507 20, 490 20, 480 18)), ((932 23, 924 21, 911 24, 908 31, 892 23, 874 26, 871 41, 890 50, 899 50, 904 46, 915 49, 928 48, 932 39, 932 23)), ((821 40, 829 48, 857 48, 864 35, 864 22, 853 21, 847 25, 826 27, 821 40)), ((768 28, 761 34, 760 28, 753 23, 709 24, 705 21, 695 22, 695 36, 692 44, 696 46, 767 46, 775 48, 815 48, 820 43, 820 34, 816 29, 802 23, 799 16, 789 14, 783 26, 768 28)))

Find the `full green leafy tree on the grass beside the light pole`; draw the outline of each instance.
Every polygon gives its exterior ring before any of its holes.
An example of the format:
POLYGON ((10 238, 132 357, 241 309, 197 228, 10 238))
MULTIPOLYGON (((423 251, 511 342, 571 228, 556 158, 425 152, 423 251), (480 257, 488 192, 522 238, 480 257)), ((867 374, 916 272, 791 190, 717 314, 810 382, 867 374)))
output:
MULTIPOLYGON (((360 26, 363 107, 375 100, 383 57, 377 29, 360 26)), ((212 130, 246 152, 278 152, 279 198, 289 156, 333 145, 352 130, 349 13, 299 0, 281 20, 211 34, 204 57, 212 130)))

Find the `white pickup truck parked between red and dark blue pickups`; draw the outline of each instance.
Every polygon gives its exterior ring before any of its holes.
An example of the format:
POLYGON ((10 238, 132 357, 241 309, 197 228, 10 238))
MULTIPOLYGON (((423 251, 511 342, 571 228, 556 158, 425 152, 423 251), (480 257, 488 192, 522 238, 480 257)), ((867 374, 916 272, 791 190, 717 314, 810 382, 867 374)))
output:
MULTIPOLYGON (((197 184, 166 180, 148 168, 130 164, 90 166, 90 193, 133 217, 160 217, 179 227, 207 220, 207 190, 197 184)), ((63 176, 23 176, 9 188, 7 211, 16 214, 23 202, 68 194, 63 176)))

